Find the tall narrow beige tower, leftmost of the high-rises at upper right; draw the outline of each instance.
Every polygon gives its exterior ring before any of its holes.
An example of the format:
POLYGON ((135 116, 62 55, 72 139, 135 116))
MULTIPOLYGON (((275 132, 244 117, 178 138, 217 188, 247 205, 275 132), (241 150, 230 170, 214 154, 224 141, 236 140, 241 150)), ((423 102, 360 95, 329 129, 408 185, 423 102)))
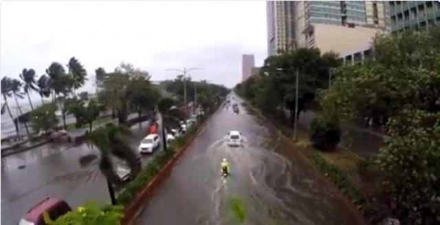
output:
POLYGON ((294 2, 267 1, 267 52, 294 50, 294 2))

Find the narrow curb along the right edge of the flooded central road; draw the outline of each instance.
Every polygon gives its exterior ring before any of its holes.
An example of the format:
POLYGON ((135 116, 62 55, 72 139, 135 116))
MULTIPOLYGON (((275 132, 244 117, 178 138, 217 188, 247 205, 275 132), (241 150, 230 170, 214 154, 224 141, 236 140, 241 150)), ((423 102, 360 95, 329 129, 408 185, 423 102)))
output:
MULTIPOLYGON (((240 97, 242 98, 242 97, 240 97)), ((252 110, 254 110, 256 112, 256 114, 258 114, 259 116, 261 116, 261 118, 263 118, 263 120, 265 120, 265 122, 267 122, 270 127, 272 127, 272 129, 274 129, 279 136, 281 136, 281 138, 283 138, 284 140, 287 141, 287 143, 289 143, 289 145, 291 147, 294 148, 300 148, 298 146, 296 146, 296 144, 292 143, 292 140, 289 140, 289 138, 287 138, 283 132, 281 132, 280 130, 278 130, 274 124, 272 124, 272 122, 267 119, 263 114, 261 114, 261 111, 259 111, 258 109, 256 109, 253 105, 251 105, 250 103, 248 103, 248 100, 245 100, 245 98, 242 98, 243 102, 250 107, 252 110)), ((345 204, 347 207, 347 210, 349 212, 351 212, 357 219, 355 224, 362 224, 362 225, 366 225, 369 224, 369 222, 367 222, 366 218, 364 217, 364 215, 362 215, 362 213, 360 213, 360 211, 358 211, 356 209, 356 206, 353 204, 353 202, 351 202, 351 200, 349 200, 349 198, 344 195, 344 193, 342 193, 342 191, 340 191, 340 189, 338 188, 338 186, 336 186, 335 183, 333 183, 331 180, 329 180, 329 178, 325 177, 325 175, 322 174, 322 172, 318 169, 318 167, 316 167, 316 165, 311 162, 309 160, 309 158, 305 155, 305 153, 301 152, 301 151, 297 151, 296 149, 294 149, 294 151, 296 151, 298 153, 298 155, 303 158, 303 160, 305 160, 305 162, 307 164, 309 164, 311 166, 311 168, 313 168, 313 170, 316 172, 316 174, 318 174, 316 176, 316 178, 323 180, 331 189, 331 193, 333 193, 334 195, 336 195, 336 198, 338 200, 340 200, 343 204, 345 204)))

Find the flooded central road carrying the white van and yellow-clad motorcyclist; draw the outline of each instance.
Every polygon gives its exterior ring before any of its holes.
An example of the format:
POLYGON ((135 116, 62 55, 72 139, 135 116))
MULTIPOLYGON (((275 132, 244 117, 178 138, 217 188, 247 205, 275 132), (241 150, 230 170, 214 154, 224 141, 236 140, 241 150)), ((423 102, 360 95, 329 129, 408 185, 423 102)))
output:
POLYGON ((244 107, 239 114, 223 107, 210 118, 135 224, 236 224, 232 200, 243 202, 244 224, 364 224, 316 169, 244 107), (231 130, 243 133, 243 147, 227 146, 231 130), (225 180, 223 158, 232 170, 225 180))

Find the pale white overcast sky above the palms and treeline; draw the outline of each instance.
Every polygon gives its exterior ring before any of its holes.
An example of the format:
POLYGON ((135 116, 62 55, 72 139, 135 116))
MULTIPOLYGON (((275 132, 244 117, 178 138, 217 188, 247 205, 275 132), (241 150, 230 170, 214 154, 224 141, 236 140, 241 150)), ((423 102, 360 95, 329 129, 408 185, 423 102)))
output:
POLYGON ((267 55, 265 1, 3 1, 0 17, 2 77, 41 75, 75 56, 91 81, 97 67, 125 61, 153 81, 177 75, 167 68, 203 67, 195 80, 233 87, 242 54, 257 66, 267 55))

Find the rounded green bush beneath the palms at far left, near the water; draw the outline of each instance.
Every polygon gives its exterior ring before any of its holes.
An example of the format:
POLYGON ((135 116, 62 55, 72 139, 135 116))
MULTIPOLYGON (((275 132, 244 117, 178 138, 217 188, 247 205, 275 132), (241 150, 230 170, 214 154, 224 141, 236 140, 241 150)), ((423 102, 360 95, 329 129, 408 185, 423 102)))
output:
POLYGON ((32 111, 32 128, 35 132, 47 131, 58 125, 56 108, 52 104, 41 105, 32 111))

